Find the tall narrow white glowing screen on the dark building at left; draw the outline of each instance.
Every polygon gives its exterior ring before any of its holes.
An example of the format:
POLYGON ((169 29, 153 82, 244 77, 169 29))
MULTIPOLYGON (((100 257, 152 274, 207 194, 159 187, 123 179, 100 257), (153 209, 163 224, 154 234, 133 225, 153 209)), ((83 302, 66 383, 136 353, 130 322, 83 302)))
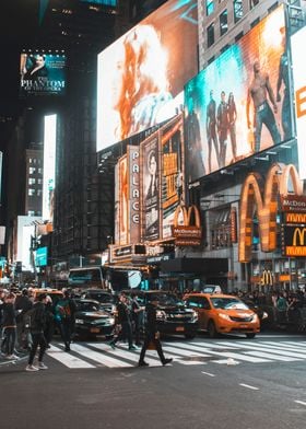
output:
POLYGON ((47 115, 44 124, 43 219, 50 222, 54 219, 56 136, 57 115, 47 115))

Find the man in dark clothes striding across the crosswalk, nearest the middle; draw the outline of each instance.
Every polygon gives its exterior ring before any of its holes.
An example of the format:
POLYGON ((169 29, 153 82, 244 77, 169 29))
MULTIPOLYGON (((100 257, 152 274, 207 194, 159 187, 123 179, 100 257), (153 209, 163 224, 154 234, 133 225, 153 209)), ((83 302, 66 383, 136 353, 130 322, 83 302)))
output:
POLYGON ((156 302, 152 301, 149 302, 145 305, 145 312, 146 312, 146 323, 145 323, 145 336, 144 336, 144 343, 140 352, 139 357, 139 367, 148 367, 149 363, 144 361, 144 356, 145 351, 148 350, 148 347, 151 343, 154 344, 155 350, 158 353, 158 357, 161 359, 161 362, 163 366, 170 363, 173 361, 172 358, 166 359, 162 349, 162 345, 160 341, 160 333, 157 332, 156 327, 156 302))

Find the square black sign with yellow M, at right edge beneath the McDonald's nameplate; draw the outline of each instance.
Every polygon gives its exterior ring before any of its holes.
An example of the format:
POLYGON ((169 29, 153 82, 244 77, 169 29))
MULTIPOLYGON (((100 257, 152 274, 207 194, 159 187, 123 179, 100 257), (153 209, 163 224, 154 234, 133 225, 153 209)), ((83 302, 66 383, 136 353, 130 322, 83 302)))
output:
POLYGON ((306 228, 304 225, 282 225, 283 256, 306 256, 306 228))

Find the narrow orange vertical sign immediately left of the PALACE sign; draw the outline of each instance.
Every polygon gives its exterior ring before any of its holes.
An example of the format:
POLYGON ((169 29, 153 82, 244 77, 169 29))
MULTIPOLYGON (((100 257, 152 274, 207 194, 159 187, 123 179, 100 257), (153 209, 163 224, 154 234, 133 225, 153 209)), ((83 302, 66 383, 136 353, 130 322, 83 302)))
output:
POLYGON ((128 220, 129 220, 129 177, 128 158, 123 155, 118 162, 119 174, 119 244, 128 244, 128 220))

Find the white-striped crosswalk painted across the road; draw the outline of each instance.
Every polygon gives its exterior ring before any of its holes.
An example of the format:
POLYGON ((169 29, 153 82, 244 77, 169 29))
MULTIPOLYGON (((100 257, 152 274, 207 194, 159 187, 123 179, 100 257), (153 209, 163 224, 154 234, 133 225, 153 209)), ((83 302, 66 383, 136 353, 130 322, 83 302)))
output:
MULTIPOLYGON (((239 364, 263 362, 295 362, 306 360, 306 340, 222 340, 163 341, 166 357, 174 364, 239 364)), ((140 349, 130 351, 126 344, 113 350, 106 343, 73 343, 71 352, 63 351, 60 344, 48 349, 47 355, 70 369, 132 368, 139 360, 140 349)), ((162 363, 155 350, 148 350, 145 361, 150 367, 162 363)))

